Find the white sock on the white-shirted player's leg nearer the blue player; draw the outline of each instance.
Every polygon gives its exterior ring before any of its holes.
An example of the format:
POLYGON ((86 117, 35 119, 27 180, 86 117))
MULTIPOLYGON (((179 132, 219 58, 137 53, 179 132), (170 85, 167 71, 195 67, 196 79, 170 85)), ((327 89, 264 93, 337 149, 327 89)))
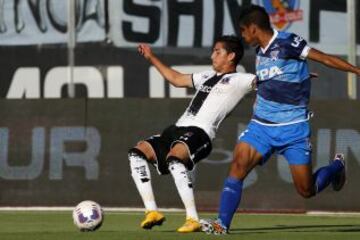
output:
POLYGON ((184 164, 176 161, 169 163, 169 170, 174 178, 176 188, 185 206, 186 218, 191 217, 192 219, 199 221, 199 216, 195 206, 192 181, 189 178, 188 170, 184 164))

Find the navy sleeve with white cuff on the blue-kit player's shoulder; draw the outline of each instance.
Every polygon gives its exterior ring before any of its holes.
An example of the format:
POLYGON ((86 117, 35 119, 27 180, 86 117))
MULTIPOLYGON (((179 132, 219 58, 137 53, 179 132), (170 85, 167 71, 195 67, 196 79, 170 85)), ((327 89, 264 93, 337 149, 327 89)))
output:
POLYGON ((302 37, 291 33, 285 42, 286 56, 304 60, 309 54, 310 47, 302 37))

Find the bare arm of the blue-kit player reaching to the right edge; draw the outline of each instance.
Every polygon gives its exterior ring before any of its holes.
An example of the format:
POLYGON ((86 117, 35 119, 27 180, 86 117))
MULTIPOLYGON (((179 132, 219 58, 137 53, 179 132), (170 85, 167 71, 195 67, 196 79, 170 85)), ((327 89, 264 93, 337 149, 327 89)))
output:
POLYGON ((311 48, 308 54, 308 58, 317 62, 320 62, 328 67, 336 68, 345 72, 352 72, 360 75, 360 68, 351 65, 341 58, 323 53, 317 49, 311 48))

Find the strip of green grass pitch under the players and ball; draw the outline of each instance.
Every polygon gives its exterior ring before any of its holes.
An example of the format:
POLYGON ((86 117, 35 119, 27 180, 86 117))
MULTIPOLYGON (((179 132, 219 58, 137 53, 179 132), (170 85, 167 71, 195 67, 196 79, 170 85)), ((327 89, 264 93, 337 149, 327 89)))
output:
MULTIPOLYGON (((253 215, 237 214, 231 234, 226 236, 205 233, 180 234, 176 228, 183 224, 184 214, 165 213, 161 227, 143 230, 139 227, 143 214, 139 212, 105 212, 103 226, 96 232, 79 232, 72 223, 71 212, 0 212, 1 240, 185 240, 185 239, 291 239, 335 240, 360 239, 360 216, 309 216, 309 215, 253 215)), ((215 214, 200 214, 214 218, 215 214)))

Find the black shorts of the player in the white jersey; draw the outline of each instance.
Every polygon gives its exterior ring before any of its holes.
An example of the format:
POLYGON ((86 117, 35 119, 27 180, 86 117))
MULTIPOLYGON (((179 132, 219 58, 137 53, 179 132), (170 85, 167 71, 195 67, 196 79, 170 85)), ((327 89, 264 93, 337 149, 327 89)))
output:
POLYGON ((155 151, 157 162, 154 165, 160 174, 169 174, 166 156, 171 147, 178 142, 184 143, 188 147, 190 158, 186 166, 188 170, 192 170, 194 164, 206 158, 212 149, 209 136, 198 127, 171 125, 160 135, 153 135, 145 141, 150 143, 155 151))

